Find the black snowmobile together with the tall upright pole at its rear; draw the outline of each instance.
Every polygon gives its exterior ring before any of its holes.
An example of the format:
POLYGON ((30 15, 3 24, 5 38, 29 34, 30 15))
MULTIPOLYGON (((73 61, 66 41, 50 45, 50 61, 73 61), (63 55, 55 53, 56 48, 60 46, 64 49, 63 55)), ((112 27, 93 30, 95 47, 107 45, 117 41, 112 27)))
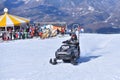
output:
POLYGON ((79 24, 74 24, 73 26, 78 27, 78 33, 72 35, 73 38, 76 40, 73 43, 70 40, 64 41, 63 45, 55 52, 55 58, 50 59, 50 63, 55 65, 57 64, 57 60, 62 60, 63 62, 70 62, 73 65, 78 64, 77 60, 80 57, 80 47, 79 47, 79 24), (77 36, 78 35, 78 36, 77 36))

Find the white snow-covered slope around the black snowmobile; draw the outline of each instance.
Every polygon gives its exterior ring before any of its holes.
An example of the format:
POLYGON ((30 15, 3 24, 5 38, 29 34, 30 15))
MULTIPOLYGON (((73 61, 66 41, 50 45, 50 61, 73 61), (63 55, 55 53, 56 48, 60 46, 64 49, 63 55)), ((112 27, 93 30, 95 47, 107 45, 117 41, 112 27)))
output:
POLYGON ((0 43, 0 80, 120 80, 120 34, 80 34, 79 64, 49 64, 69 37, 0 43))

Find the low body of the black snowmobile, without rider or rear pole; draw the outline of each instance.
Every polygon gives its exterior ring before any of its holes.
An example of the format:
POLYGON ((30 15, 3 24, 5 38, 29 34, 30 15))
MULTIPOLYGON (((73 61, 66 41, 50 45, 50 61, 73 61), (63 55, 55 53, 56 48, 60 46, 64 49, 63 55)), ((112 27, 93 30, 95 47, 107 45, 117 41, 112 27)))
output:
POLYGON ((77 65, 77 59, 80 57, 79 46, 75 44, 64 43, 59 49, 55 52, 55 58, 50 59, 50 63, 56 65, 57 60, 62 60, 63 62, 69 62, 73 65, 77 65))

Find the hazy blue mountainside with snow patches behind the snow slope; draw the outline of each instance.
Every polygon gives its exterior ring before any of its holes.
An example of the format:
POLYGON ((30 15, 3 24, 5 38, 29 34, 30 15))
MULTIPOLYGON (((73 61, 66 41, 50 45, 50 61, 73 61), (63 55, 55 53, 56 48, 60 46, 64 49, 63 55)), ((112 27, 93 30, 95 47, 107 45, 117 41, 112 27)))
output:
POLYGON ((3 0, 0 4, 0 13, 8 7, 10 13, 32 21, 79 23, 92 32, 120 28, 119 0, 3 0))

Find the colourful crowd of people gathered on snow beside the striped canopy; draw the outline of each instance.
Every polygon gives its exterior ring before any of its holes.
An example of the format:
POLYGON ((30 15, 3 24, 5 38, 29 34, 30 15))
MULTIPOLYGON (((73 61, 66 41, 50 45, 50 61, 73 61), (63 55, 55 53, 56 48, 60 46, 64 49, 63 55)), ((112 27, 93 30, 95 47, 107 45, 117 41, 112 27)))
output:
POLYGON ((40 37, 41 39, 49 38, 57 36, 58 34, 65 34, 65 28, 61 28, 61 30, 52 28, 42 28, 40 26, 27 26, 13 30, 12 28, 8 28, 8 31, 2 33, 2 40, 18 40, 18 39, 29 39, 33 37, 40 37))

